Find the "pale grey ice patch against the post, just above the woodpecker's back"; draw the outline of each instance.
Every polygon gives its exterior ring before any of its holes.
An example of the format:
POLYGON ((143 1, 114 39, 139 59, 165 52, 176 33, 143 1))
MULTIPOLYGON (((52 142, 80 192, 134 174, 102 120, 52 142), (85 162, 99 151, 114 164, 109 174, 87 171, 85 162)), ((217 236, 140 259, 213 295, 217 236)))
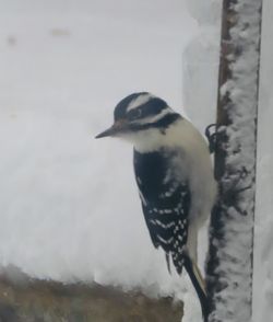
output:
POLYGON ((218 81, 219 31, 202 27, 183 51, 182 100, 186 113, 204 133, 215 123, 218 81))

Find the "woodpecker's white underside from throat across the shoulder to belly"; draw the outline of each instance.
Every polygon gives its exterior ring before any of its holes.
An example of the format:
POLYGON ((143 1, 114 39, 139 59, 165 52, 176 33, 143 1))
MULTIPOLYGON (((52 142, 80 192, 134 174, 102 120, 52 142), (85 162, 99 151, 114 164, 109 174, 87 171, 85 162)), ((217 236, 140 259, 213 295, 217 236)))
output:
POLYGON ((198 219, 198 226, 211 214, 216 197, 216 183, 207 145, 202 135, 187 119, 178 119, 166 134, 149 129, 131 138, 134 148, 140 152, 151 152, 168 147, 181 149, 177 166, 181 175, 187 176, 191 191, 190 220, 198 219))

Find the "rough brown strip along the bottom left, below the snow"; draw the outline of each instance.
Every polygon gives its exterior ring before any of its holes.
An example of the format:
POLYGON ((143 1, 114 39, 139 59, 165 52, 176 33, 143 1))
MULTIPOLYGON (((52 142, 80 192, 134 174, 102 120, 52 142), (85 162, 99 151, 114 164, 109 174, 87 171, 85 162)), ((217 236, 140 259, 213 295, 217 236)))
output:
POLYGON ((1 322, 180 322, 182 303, 140 291, 31 279, 17 269, 0 275, 1 322))

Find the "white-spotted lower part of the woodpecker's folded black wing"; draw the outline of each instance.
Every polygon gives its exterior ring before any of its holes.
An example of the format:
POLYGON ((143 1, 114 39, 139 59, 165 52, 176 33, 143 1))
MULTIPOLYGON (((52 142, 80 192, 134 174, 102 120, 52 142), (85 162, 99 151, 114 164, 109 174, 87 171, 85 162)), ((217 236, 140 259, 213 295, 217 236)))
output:
MULTIPOLYGON (((141 185, 140 185, 141 187, 141 185)), ((155 248, 162 246, 173 257, 174 265, 181 273, 183 248, 188 239, 188 216, 190 192, 188 185, 180 183, 171 191, 166 191, 152 202, 140 191, 142 209, 155 248)), ((168 264, 169 267, 169 264, 168 264)))

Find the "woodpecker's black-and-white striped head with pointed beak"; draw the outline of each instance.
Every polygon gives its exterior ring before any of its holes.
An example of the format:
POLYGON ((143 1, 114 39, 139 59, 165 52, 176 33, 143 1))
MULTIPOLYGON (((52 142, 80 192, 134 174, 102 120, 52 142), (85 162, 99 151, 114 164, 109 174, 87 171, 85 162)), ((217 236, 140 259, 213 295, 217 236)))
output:
POLYGON ((134 146, 151 139, 156 141, 179 117, 164 100, 147 92, 134 93, 118 103, 114 125, 96 138, 119 137, 134 146))

